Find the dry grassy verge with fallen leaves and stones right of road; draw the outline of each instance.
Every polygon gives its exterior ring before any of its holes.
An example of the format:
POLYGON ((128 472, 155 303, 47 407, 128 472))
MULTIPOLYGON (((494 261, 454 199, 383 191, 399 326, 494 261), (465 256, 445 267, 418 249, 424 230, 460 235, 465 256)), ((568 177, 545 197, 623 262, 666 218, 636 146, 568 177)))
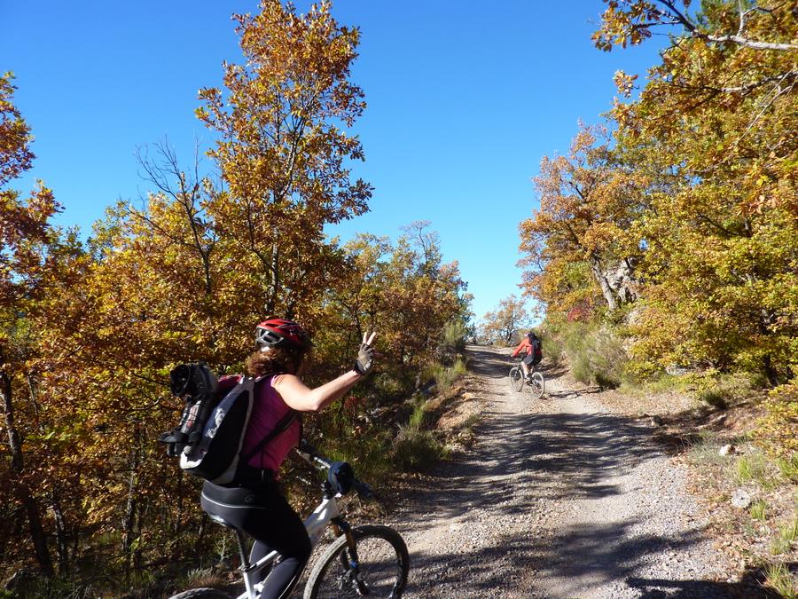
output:
POLYGON ((716 545, 740 565, 739 574, 758 571, 772 589, 795 597, 798 457, 774 458, 755 445, 765 391, 722 380, 702 394, 685 382, 666 383, 624 386, 598 398, 613 412, 652 426, 654 437, 690 468, 691 491, 707 508, 716 545), (732 445, 732 453, 720 455, 723 445, 732 445), (738 489, 752 498, 747 508, 731 504, 738 489))

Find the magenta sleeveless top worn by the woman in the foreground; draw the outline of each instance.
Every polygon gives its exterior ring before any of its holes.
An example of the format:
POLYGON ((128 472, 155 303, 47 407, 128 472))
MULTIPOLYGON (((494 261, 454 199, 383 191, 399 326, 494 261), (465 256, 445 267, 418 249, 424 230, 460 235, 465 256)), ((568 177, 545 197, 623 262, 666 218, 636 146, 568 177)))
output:
MULTIPOLYGON (((273 387, 274 376, 269 376, 255 383, 254 402, 252 414, 249 416, 249 425, 244 435, 244 446, 241 455, 246 455, 254 450, 280 420, 291 411, 286 402, 273 387)), ((248 465, 253 468, 270 469, 277 474, 280 465, 286 460, 288 452, 299 445, 302 424, 301 414, 289 427, 274 437, 259 453, 255 453, 248 465)))

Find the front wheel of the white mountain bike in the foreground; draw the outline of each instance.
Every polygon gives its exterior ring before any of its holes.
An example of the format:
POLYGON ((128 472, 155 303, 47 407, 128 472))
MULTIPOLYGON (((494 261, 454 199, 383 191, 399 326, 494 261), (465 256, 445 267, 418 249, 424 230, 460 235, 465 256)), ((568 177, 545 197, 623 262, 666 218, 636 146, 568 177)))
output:
POLYGON ((358 526, 355 537, 359 572, 355 579, 350 566, 347 538, 341 535, 332 541, 310 571, 304 599, 326 597, 402 596, 410 571, 410 556, 402 536, 387 526, 358 526), (366 587, 363 592, 360 585, 366 587))

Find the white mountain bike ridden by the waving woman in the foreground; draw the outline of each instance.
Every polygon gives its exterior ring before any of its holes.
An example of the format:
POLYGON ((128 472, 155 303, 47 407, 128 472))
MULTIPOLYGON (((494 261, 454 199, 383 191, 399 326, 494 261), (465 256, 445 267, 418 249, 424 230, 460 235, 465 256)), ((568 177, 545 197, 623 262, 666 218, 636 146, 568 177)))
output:
MULTIPOLYGON (((334 472, 340 472, 340 465, 347 462, 329 460, 319 455, 312 445, 302 442, 297 453, 311 466, 327 471, 327 476, 321 485, 322 501, 305 520, 305 529, 308 531, 310 542, 314 547, 317 545, 327 524, 330 524, 335 536, 335 540, 325 549, 324 554, 310 571, 305 585, 304 599, 363 595, 391 599, 401 597, 410 570, 410 557, 402 536, 388 526, 366 525, 352 528, 340 515, 338 509, 338 499, 352 488, 361 497, 372 497, 369 486, 358 481, 354 475, 351 477, 351 485, 348 485, 347 477, 334 476, 334 472), (344 482, 341 482, 342 480, 344 482), (347 486, 349 488, 346 488, 347 486)), ((348 464, 347 468, 351 473, 348 464)), ((237 599, 258 599, 261 596, 262 582, 256 583, 255 580, 261 578, 259 573, 270 568, 278 560, 278 552, 272 551, 255 564, 250 564, 246 556, 244 533, 219 516, 210 513, 208 516, 236 533, 241 559, 239 570, 242 572, 246 587, 246 592, 237 599)), ((230 599, 230 595, 215 588, 194 588, 174 595, 171 599, 193 597, 230 599)))

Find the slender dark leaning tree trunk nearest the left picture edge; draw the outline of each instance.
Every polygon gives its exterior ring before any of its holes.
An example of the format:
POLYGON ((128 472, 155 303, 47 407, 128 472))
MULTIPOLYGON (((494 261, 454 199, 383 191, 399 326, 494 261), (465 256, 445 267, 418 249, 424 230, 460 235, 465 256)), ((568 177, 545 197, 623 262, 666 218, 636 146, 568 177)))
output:
POLYGON ((14 405, 12 401, 12 382, 7 373, 0 373, 0 395, 3 396, 3 407, 5 416, 5 429, 8 430, 8 446, 12 454, 12 472, 16 477, 17 499, 25 508, 27 514, 27 524, 30 537, 34 544, 36 561, 44 576, 51 578, 53 575, 52 560, 50 550, 47 548, 47 538, 44 535, 42 526, 42 516, 39 506, 27 483, 22 480, 25 469, 25 461, 22 453, 22 439, 14 423, 14 405))

